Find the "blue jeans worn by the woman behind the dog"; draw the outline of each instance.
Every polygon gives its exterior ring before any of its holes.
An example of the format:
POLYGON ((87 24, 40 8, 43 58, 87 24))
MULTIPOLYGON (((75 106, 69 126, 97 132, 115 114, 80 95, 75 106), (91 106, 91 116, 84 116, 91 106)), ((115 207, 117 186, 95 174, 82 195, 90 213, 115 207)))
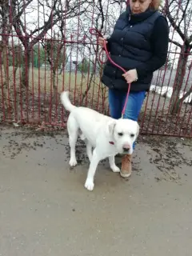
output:
MULTIPOLYGON (((146 98, 146 91, 130 92, 123 118, 138 121, 142 103, 146 98)), ((126 101, 126 92, 109 89, 110 116, 118 119, 122 117, 122 109, 126 101)), ((135 142, 134 142, 135 148, 135 142)))

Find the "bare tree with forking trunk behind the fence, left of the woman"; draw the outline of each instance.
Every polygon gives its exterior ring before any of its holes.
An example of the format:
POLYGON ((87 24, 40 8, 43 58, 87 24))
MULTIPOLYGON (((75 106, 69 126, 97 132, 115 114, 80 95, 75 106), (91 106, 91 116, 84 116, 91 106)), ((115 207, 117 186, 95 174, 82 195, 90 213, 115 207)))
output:
MULTIPOLYGON (((74 18, 77 15, 81 15, 86 10, 86 6, 90 4, 89 1, 82 0, 78 1, 66 1, 66 6, 63 6, 62 0, 11 0, 11 10, 12 10, 12 26, 18 38, 24 46, 24 54, 26 59, 26 65, 23 66, 22 70, 22 85, 29 86, 29 70, 30 70, 30 54, 34 45, 45 38, 47 32, 53 28, 60 20, 74 18), (34 3, 37 6, 38 13, 43 10, 42 16, 44 21, 42 24, 40 22, 35 22, 36 28, 30 29, 31 24, 26 23, 27 11, 30 11, 31 5, 34 3), (81 8, 80 6, 85 6, 81 8), (46 6, 46 7, 45 7, 46 6), (80 10, 80 11, 79 11, 80 10)), ((33 7, 34 8, 34 7, 33 7)))

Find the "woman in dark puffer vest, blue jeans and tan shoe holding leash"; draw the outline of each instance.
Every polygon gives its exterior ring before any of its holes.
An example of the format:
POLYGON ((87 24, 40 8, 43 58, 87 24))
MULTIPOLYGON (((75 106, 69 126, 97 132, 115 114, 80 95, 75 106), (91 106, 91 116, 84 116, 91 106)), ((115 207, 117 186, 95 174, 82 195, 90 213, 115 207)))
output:
MULTIPOLYGON (((138 121, 146 92, 150 90, 153 73, 166 63, 169 26, 158 11, 161 0, 130 0, 119 16, 110 38, 98 38, 104 47, 106 42, 110 58, 127 70, 123 74, 108 60, 104 66, 102 83, 109 88, 110 116, 121 118, 126 101, 128 83, 130 94, 123 118, 138 121)), ((135 148, 135 143, 134 143, 135 148)), ((132 172, 132 155, 122 156, 120 174, 123 178, 132 172)))

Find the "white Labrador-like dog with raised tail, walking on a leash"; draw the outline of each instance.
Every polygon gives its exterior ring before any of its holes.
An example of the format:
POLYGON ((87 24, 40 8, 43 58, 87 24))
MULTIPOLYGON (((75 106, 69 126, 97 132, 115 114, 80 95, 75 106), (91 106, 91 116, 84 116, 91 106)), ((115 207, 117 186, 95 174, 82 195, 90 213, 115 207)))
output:
POLYGON ((90 159, 85 187, 87 190, 94 189, 94 174, 98 162, 109 158, 110 168, 119 172, 115 165, 116 154, 132 154, 133 143, 138 137, 138 122, 129 119, 114 119, 99 114, 82 106, 74 106, 69 99, 69 92, 61 94, 61 102, 66 110, 70 111, 67 121, 67 130, 70 142, 70 166, 77 165, 75 156, 75 144, 78 139, 79 130, 82 132, 82 139, 86 141, 86 153, 90 159), (94 148, 92 153, 92 148, 94 148))

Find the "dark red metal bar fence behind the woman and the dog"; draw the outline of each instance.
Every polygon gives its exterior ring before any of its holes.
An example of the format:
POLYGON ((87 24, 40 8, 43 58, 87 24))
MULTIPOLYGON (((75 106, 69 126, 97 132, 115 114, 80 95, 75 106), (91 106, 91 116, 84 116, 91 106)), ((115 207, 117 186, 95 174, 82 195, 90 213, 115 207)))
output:
MULTIPOLYGON (((109 114, 89 29, 110 35, 125 8, 126 1, 115 0, 2 1, 0 122, 66 126, 62 90, 70 90, 75 105, 109 114)), ((169 54, 154 72, 139 124, 142 134, 192 137, 192 2, 167 0, 161 11, 170 24, 169 54)))

